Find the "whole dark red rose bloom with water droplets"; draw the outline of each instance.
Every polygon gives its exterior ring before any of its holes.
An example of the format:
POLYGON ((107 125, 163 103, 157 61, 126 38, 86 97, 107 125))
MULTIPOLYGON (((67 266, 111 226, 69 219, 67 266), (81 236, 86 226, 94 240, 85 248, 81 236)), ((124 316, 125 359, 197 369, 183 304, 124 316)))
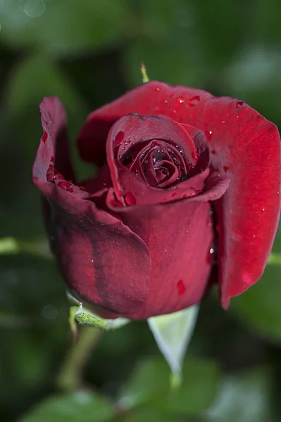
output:
POLYGON ((77 298, 145 319, 200 302, 216 267, 225 308, 261 277, 280 213, 274 124, 242 101, 149 82, 89 115, 77 144, 99 172, 78 183, 63 106, 44 98, 41 113, 33 181, 77 298))

